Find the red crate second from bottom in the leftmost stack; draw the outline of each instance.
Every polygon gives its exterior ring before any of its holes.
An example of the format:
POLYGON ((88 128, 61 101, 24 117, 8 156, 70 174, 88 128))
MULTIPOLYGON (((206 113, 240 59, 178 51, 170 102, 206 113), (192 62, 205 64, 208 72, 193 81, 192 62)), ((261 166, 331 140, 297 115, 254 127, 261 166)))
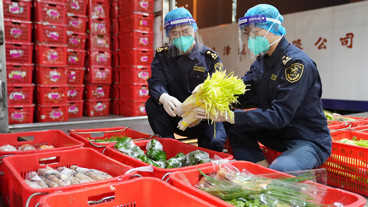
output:
POLYGON ((7 86, 8 105, 29 105, 33 103, 34 84, 13 84, 7 86))

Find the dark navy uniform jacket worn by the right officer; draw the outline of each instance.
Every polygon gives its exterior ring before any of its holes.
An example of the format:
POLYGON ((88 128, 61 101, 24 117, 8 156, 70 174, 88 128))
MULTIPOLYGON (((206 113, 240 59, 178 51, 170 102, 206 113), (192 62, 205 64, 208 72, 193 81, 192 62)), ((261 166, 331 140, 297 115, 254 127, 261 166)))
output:
MULTIPOLYGON (((235 111, 235 124, 248 131, 270 129, 283 139, 314 142, 331 154, 331 137, 323 113, 322 83, 315 62, 283 37, 271 56, 257 59, 243 77, 257 97, 258 109, 235 111)), ((271 137, 270 137, 271 138, 271 137)))

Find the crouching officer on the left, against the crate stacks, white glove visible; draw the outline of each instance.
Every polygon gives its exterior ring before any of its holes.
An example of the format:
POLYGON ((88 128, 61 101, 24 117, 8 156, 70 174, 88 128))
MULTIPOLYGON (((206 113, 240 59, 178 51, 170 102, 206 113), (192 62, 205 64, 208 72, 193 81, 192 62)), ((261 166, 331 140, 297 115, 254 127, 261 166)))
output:
POLYGON ((148 79, 150 98, 145 107, 150 126, 164 138, 175 138, 174 133, 198 137, 199 147, 222 152, 226 140, 222 123, 214 126, 202 121, 182 131, 177 128, 182 118, 175 113, 198 84, 215 70, 223 69, 221 58, 203 45, 196 22, 184 8, 167 13, 164 30, 170 45, 157 49, 148 79))

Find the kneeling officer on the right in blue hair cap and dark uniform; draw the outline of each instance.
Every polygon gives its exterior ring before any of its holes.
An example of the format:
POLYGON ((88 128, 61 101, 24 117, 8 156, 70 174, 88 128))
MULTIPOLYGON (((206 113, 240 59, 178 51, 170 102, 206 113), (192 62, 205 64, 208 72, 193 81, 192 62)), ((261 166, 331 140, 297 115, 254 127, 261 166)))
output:
MULTIPOLYGON (((284 37, 282 22, 279 11, 268 4, 250 8, 239 19, 240 59, 256 60, 242 78, 250 90, 238 101, 256 97, 258 108, 234 110, 233 121, 220 116, 213 121, 224 122, 237 160, 267 167, 259 141, 282 153, 269 168, 314 169, 327 160, 332 148, 322 109, 322 83, 315 62, 284 37)), ((195 110, 198 118, 210 117, 195 110)))

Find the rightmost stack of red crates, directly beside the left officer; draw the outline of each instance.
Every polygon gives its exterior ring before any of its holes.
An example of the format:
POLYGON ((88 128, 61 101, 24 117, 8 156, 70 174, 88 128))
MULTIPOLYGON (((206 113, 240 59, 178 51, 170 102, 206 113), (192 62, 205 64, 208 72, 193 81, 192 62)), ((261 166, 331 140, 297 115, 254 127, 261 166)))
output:
MULTIPOLYGON (((122 116, 146 115, 147 79, 153 60, 154 0, 119 0, 119 108, 122 116)), ((116 26, 115 26, 116 27, 116 26)))

